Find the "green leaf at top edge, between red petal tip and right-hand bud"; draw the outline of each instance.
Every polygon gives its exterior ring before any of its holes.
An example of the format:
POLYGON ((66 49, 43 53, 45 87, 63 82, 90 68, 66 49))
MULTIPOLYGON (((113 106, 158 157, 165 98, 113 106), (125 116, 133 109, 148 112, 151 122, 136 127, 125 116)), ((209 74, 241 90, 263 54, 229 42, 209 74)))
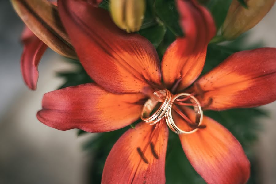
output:
POLYGON ((212 13, 217 25, 217 30, 223 24, 232 0, 210 0, 207 8, 212 13))

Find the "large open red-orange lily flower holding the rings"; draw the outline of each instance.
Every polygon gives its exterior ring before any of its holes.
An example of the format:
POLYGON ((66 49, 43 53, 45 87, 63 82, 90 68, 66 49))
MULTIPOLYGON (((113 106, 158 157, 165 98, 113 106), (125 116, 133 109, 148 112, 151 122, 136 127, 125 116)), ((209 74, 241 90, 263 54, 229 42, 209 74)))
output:
MULTIPOLYGON (((185 2, 182 5, 185 7, 185 2)), ((82 0, 59 0, 58 11, 82 66, 95 83, 45 94, 42 110, 37 113, 45 125, 87 132, 125 127, 140 118, 149 89, 189 92, 205 109, 212 110, 254 107, 276 99, 276 48, 237 52, 197 79, 214 35, 213 21, 200 25, 210 33, 204 36, 204 42, 195 45, 188 37, 177 39, 160 63, 147 39, 117 28, 106 10, 82 0), (191 44, 196 49, 187 52, 191 44)), ((198 21, 204 15, 210 17, 204 8, 191 11, 188 13, 198 21)), ((193 121, 191 109, 179 106, 172 115, 180 128, 191 129, 182 118, 184 115, 193 121)), ((156 125, 141 122, 121 136, 106 160, 102 183, 165 183, 169 131, 163 121, 156 125)), ((207 183, 246 183, 250 163, 240 143, 213 119, 204 116, 203 124, 206 127, 197 132, 179 135, 194 169, 207 183)))

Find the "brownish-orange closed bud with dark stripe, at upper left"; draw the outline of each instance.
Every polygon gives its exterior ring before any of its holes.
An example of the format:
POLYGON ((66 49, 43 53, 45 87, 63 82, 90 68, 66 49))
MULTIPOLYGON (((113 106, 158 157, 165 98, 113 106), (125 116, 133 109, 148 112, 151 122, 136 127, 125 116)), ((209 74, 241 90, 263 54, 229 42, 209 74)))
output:
POLYGON ((14 10, 29 29, 62 56, 77 58, 59 19, 56 3, 47 0, 11 0, 14 10))

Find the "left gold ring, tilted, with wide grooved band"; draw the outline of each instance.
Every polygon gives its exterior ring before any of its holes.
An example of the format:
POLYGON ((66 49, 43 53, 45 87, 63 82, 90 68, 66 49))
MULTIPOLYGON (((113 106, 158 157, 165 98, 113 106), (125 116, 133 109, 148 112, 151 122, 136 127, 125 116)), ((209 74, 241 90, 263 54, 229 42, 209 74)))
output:
POLYGON ((152 115, 151 112, 154 110, 159 101, 155 100, 154 98, 150 98, 144 104, 141 113, 141 119, 149 125, 154 125, 159 122, 167 114, 173 104, 173 95, 167 89, 155 91, 153 95, 157 98, 161 98, 163 102, 152 115))

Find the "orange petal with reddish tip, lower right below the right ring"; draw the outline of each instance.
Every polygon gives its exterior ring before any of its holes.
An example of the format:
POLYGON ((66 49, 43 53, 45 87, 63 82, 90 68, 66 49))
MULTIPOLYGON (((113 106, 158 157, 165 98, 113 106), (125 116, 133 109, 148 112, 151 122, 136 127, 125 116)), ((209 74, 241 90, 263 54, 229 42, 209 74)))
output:
MULTIPOLYGON (((194 111, 185 108, 195 121, 194 111)), ((180 128, 186 128, 183 119, 173 113, 180 128)), ((192 134, 179 135, 182 148, 194 169, 209 184, 244 184, 250 175, 250 163, 242 146, 222 125, 204 116, 203 125, 192 134)))

